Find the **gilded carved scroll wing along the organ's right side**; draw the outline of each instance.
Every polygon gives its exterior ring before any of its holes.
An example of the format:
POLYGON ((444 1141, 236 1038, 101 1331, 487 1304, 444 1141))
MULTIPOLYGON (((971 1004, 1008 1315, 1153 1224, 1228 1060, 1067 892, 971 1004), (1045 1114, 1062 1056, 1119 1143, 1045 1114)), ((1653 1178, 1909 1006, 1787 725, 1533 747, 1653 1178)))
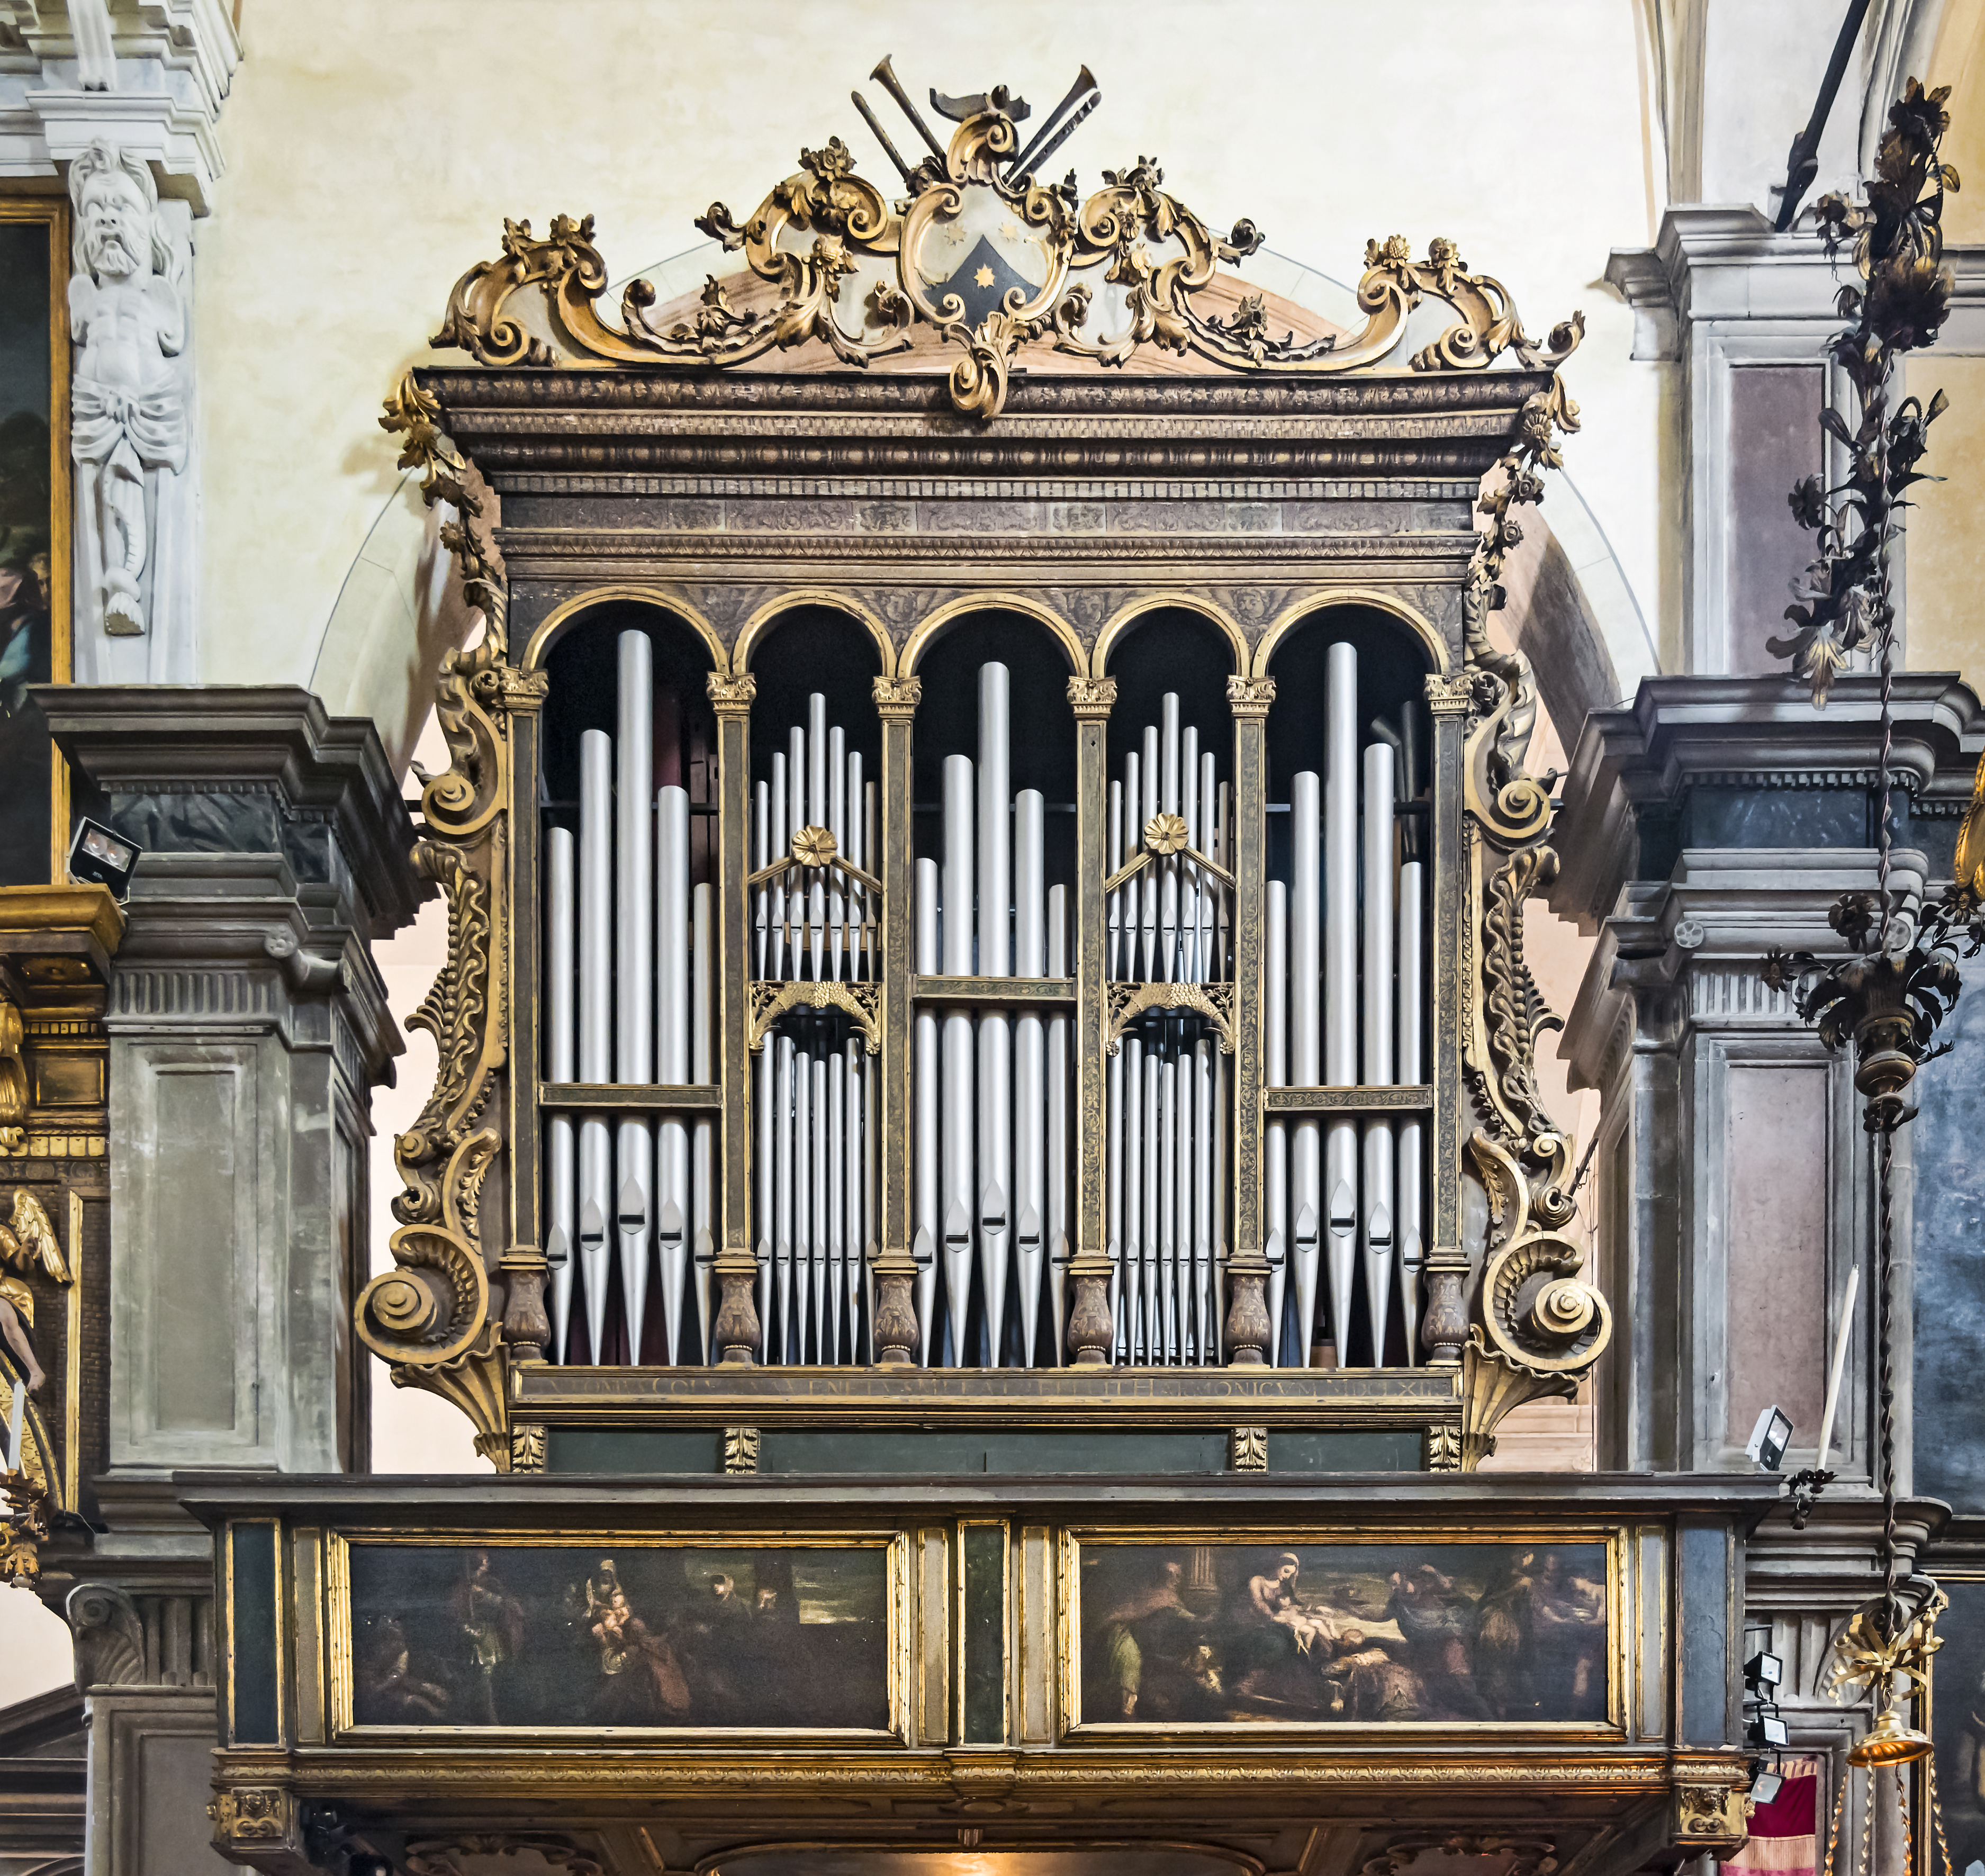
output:
POLYGON ((1528 772, 1536 679, 1521 651, 1499 651, 1489 613, 1503 605, 1497 576, 1519 540, 1513 512, 1544 494, 1538 469, 1560 465, 1552 437, 1578 429, 1578 405, 1552 379, 1528 401, 1515 449, 1481 498, 1487 528, 1463 590, 1467 693, 1463 828, 1467 943, 1463 957, 1463 1066, 1475 1106, 1469 1161, 1489 1195, 1491 1241, 1463 1350, 1461 1465, 1495 1449, 1495 1425, 1513 1407, 1570 1396, 1612 1338, 1612 1312, 1586 1280, 1586 1249, 1568 1189, 1572 1141, 1536 1086, 1536 1038, 1560 1026, 1522 955, 1524 901, 1548 885, 1558 856, 1550 832, 1550 778, 1528 772))

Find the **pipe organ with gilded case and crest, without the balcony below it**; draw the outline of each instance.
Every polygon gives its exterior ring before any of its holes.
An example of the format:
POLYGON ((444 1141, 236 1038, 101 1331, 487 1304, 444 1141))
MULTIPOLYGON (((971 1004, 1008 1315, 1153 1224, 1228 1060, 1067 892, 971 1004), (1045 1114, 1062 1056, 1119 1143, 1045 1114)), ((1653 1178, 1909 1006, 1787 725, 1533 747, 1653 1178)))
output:
POLYGON ((520 224, 451 304, 474 363, 389 405, 486 631, 423 794, 443 1074, 357 1318, 498 1463, 1258 1421, 1268 1465, 1467 1467, 1610 1334, 1495 625, 1576 322, 1393 240, 1360 332, 1270 337, 1213 286, 1249 224, 1147 169, 1070 218, 1000 97, 913 206, 816 151, 713 210, 756 284, 679 326, 639 282, 605 320, 590 224, 520 224), (981 191, 1070 298, 929 298, 981 191), (1078 276, 1143 238, 1185 256, 1149 332, 1094 339, 1078 276), (1457 324, 1384 365, 1425 302, 1457 324), (1127 369, 1159 332, 1185 363, 1127 369))

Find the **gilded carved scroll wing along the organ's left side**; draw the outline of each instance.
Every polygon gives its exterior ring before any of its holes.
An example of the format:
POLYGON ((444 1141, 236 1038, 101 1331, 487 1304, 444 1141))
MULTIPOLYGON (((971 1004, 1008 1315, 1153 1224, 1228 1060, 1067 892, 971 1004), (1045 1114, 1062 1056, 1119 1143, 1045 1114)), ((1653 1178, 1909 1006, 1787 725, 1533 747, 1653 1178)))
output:
MULTIPOLYGON (((500 943, 508 911, 510 719, 542 703, 546 679, 504 661, 504 576, 476 526, 482 502, 468 486, 468 467, 441 433, 439 417, 433 397, 409 375, 379 421, 405 439, 399 463, 421 470, 423 498, 455 510, 441 538, 461 566, 464 594, 480 607, 484 629, 441 665, 437 715, 449 768, 421 776, 425 830, 413 866, 441 887, 449 951, 419 1010, 407 1018, 409 1028, 435 1038, 435 1086, 421 1118, 393 1141, 405 1181, 393 1201, 395 1267, 359 1294, 355 1320, 359 1338, 391 1364, 395 1386, 453 1400, 474 1423, 478 1451, 508 1467, 504 1338, 490 1284, 498 1259, 484 1249, 480 1199, 504 1147, 492 1114, 506 1066, 510 997, 508 949, 500 943)), ((518 1280, 518 1274, 504 1278, 518 1280)))

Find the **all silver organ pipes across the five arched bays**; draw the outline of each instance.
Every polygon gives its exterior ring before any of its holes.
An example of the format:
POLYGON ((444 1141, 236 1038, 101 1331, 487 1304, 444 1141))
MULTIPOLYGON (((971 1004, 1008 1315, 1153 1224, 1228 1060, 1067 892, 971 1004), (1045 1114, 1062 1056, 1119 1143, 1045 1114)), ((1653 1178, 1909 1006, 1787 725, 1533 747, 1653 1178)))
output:
MULTIPOLYGON (((580 738, 578 838, 548 830, 546 1080, 711 1082, 715 907, 691 885, 689 798, 653 786, 651 647, 617 641, 615 731, 580 738)), ((941 860, 915 862, 919 979, 1062 979, 1072 887, 1048 883, 1044 814, 1010 786, 1010 683, 979 669, 977 750, 943 758, 941 860)), ((1288 877, 1266 883, 1268 1088, 1419 1086, 1425 1078, 1425 870, 1417 707, 1360 725, 1358 647, 1326 663, 1324 766, 1292 778, 1288 877), (1403 836, 1401 836, 1403 826, 1403 836)), ((752 788, 750 963, 760 983, 875 983, 881 907, 873 782, 822 695, 752 788), (826 828, 846 862, 804 866, 826 828)), ((1139 727, 1108 784, 1118 879, 1161 816, 1169 838, 1106 893, 1116 985, 1233 979, 1233 792, 1181 725, 1177 695, 1139 727)), ((1274 808, 1270 812, 1276 812, 1274 808)), ((1231 1008, 1231 1005, 1229 1005, 1231 1008)), ((925 1366, 1066 1360, 1072 1229, 1072 1005, 919 1001, 913 1022, 913 1286, 925 1366)), ((762 1358, 873 1358, 879 1074, 842 1012, 792 1012, 752 1058, 752 1197, 762 1358)), ((1116 1360, 1225 1360, 1231 1243, 1231 1062, 1217 1024, 1183 1006, 1133 1018, 1106 1066, 1106 1205, 1116 1360)), ((554 1352, 707 1362, 715 1124, 554 1112, 546 1122, 546 1253, 554 1352), (576 1253, 576 1255, 568 1255, 576 1253), (659 1274, 659 1320, 651 1278, 659 1274), (613 1278, 617 1276, 617 1286, 613 1278), (609 1322, 609 1300, 617 1318, 609 1322), (572 1312, 584 1306, 578 1334, 572 1312), (693 1318, 691 1318, 693 1308, 693 1318), (615 1334, 617 1330, 617 1334, 615 1334)), ((1397 1282, 1413 1360, 1425 1130, 1395 1114, 1270 1114, 1264 1251, 1278 1366, 1308 1366, 1328 1332, 1350 1354, 1354 1304, 1384 1362, 1397 1282), (1362 1271, 1362 1284, 1360 1284, 1362 1271)))

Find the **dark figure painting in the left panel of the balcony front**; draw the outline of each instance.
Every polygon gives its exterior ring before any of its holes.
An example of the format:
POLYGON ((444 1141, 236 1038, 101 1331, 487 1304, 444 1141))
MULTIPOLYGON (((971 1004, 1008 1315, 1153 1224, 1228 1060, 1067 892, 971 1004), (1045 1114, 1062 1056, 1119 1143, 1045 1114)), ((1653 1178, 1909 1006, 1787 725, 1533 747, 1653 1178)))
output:
POLYGON ((885 1541, 365 1544, 361 1727, 889 1731, 885 1541))

